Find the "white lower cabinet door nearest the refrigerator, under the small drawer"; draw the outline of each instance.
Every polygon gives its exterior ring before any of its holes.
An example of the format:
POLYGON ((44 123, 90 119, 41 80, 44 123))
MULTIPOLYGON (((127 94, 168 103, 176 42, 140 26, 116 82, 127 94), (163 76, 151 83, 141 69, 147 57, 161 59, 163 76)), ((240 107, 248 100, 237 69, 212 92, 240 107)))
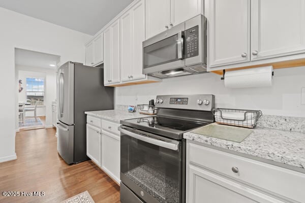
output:
POLYGON ((101 166, 101 130, 87 124, 87 156, 101 166))

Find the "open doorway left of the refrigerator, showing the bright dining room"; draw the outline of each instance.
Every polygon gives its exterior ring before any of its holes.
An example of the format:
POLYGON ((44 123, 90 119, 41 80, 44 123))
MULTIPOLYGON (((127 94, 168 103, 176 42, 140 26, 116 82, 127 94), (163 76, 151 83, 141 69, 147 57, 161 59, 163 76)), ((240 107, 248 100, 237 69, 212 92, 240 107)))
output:
POLYGON ((55 127, 60 56, 15 48, 16 131, 55 127))

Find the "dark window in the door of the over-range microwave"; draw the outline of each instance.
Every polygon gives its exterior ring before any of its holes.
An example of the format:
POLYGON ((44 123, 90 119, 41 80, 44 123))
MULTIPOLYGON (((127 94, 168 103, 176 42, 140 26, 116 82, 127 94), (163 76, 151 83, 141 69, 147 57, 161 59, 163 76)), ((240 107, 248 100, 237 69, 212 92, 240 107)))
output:
POLYGON ((144 69, 178 59, 178 34, 143 48, 144 69))

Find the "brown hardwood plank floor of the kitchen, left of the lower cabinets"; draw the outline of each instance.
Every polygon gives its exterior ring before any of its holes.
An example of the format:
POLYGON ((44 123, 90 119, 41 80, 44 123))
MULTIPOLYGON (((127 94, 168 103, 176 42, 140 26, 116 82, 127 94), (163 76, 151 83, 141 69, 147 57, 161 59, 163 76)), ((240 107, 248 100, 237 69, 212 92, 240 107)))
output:
POLYGON ((45 196, 6 197, 0 202, 60 202, 87 190, 96 203, 118 203, 119 186, 92 161, 67 165, 57 154, 55 129, 16 134, 17 160, 0 163, 0 192, 44 191, 45 196))

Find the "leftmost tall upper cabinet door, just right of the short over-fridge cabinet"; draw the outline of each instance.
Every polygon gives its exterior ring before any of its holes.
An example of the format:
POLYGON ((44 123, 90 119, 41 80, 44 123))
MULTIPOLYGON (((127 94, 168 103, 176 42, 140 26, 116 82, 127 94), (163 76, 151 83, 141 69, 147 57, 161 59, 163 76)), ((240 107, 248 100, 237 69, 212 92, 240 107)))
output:
POLYGON ((104 31, 104 84, 111 82, 111 30, 110 27, 104 31))

